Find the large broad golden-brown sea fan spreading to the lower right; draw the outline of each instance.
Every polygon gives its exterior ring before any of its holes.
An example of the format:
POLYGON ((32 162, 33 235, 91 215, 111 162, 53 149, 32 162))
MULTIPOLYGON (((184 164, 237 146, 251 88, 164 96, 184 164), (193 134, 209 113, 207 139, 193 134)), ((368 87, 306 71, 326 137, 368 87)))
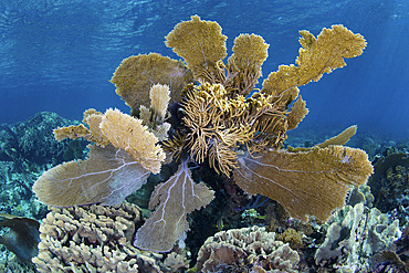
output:
POLYGON ((307 214, 326 221, 344 206, 350 186, 365 183, 374 172, 364 150, 343 146, 271 150, 260 158, 240 157, 238 162, 233 175, 240 188, 276 200, 303 221, 307 214))

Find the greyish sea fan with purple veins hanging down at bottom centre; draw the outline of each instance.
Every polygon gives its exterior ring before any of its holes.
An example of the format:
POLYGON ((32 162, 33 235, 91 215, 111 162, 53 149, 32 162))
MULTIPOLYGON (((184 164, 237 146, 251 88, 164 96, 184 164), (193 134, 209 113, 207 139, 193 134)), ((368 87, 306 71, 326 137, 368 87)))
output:
POLYGON ((206 207, 214 198, 214 191, 203 182, 196 183, 187 161, 164 183, 156 186, 149 209, 156 210, 137 231, 134 245, 155 252, 170 251, 176 241, 183 243, 189 223, 188 213, 206 207))

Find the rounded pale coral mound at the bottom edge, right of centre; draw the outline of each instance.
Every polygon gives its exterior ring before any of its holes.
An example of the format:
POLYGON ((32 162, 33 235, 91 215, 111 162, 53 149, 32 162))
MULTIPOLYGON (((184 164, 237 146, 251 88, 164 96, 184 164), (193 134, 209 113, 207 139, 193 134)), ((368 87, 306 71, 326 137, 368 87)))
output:
POLYGON ((253 227, 216 233, 199 250, 200 272, 297 272, 300 256, 274 232, 253 227))

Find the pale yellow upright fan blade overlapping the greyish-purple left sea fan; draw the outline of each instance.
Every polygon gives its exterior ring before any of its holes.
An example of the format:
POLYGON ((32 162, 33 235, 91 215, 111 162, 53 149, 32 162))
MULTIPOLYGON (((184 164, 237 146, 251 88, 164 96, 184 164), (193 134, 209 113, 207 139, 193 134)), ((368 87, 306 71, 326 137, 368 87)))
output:
POLYGON ((127 151, 145 169, 159 174, 166 155, 158 138, 141 123, 141 119, 109 108, 103 115, 99 128, 112 145, 127 151))

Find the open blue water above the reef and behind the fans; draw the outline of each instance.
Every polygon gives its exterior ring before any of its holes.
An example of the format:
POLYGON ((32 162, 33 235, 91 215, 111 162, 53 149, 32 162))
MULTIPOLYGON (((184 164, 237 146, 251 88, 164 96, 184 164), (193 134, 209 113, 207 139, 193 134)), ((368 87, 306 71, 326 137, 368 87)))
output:
MULTIPOLYGON (((301 87, 310 114, 301 128, 409 137, 409 19, 407 0, 102 1, 0 0, 0 124, 41 111, 82 119, 85 108, 127 106, 108 81, 129 55, 178 59, 164 36, 198 14, 229 36, 256 33, 270 44, 268 76, 297 55, 298 30, 317 35, 343 23, 368 46, 318 83, 301 87)), ((229 54, 231 50, 229 50, 229 54)))

